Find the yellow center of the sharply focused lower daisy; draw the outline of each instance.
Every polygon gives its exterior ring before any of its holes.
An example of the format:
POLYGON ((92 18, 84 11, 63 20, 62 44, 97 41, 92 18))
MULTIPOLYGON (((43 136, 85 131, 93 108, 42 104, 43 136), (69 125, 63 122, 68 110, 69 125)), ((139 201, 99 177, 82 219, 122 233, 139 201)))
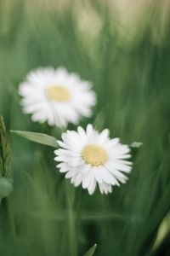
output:
POLYGON ((91 166, 103 166, 108 155, 104 148, 91 144, 82 149, 82 159, 91 166))

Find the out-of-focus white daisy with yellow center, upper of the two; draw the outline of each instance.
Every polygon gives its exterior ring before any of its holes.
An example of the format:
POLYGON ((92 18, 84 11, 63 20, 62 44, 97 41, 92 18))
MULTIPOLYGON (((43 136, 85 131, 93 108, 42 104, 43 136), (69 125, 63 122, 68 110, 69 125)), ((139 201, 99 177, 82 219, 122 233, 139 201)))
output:
POLYGON ((77 124, 81 116, 89 117, 95 104, 91 83, 82 81, 76 73, 65 68, 37 68, 28 73, 20 84, 19 93, 24 113, 31 113, 32 121, 66 127, 77 124))

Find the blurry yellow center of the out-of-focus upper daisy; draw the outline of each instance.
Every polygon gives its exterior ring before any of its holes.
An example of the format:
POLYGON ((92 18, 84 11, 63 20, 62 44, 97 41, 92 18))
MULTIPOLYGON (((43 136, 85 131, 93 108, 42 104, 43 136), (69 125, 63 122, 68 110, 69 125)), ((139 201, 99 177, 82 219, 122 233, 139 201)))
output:
POLYGON ((48 87, 46 94, 50 100, 54 100, 55 102, 67 102, 71 96, 70 92, 64 86, 60 85, 48 87))

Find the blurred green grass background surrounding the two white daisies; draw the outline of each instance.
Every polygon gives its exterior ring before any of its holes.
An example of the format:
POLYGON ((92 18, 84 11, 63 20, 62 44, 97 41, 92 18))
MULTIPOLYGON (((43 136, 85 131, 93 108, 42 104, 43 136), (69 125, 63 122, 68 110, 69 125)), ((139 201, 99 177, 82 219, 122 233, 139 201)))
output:
POLYGON ((77 256, 94 243, 99 256, 170 255, 169 14, 166 0, 0 1, 0 114, 14 178, 8 207, 0 205, 1 256, 77 256), (53 148, 9 133, 60 137, 31 123, 17 92, 26 73, 48 66, 93 82, 98 104, 83 127, 144 143, 111 195, 75 189, 56 170, 53 148))

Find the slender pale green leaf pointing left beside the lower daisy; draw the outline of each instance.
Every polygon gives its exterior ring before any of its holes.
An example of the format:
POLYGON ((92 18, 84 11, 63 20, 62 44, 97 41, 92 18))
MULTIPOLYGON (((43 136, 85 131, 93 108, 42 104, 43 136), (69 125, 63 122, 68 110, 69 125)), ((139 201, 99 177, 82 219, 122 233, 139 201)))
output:
POLYGON ((20 137, 25 137, 27 140, 34 143, 40 143, 40 144, 47 145, 54 148, 58 147, 56 138, 52 136, 48 136, 47 134, 32 132, 32 131, 11 131, 11 132, 14 132, 20 137))

